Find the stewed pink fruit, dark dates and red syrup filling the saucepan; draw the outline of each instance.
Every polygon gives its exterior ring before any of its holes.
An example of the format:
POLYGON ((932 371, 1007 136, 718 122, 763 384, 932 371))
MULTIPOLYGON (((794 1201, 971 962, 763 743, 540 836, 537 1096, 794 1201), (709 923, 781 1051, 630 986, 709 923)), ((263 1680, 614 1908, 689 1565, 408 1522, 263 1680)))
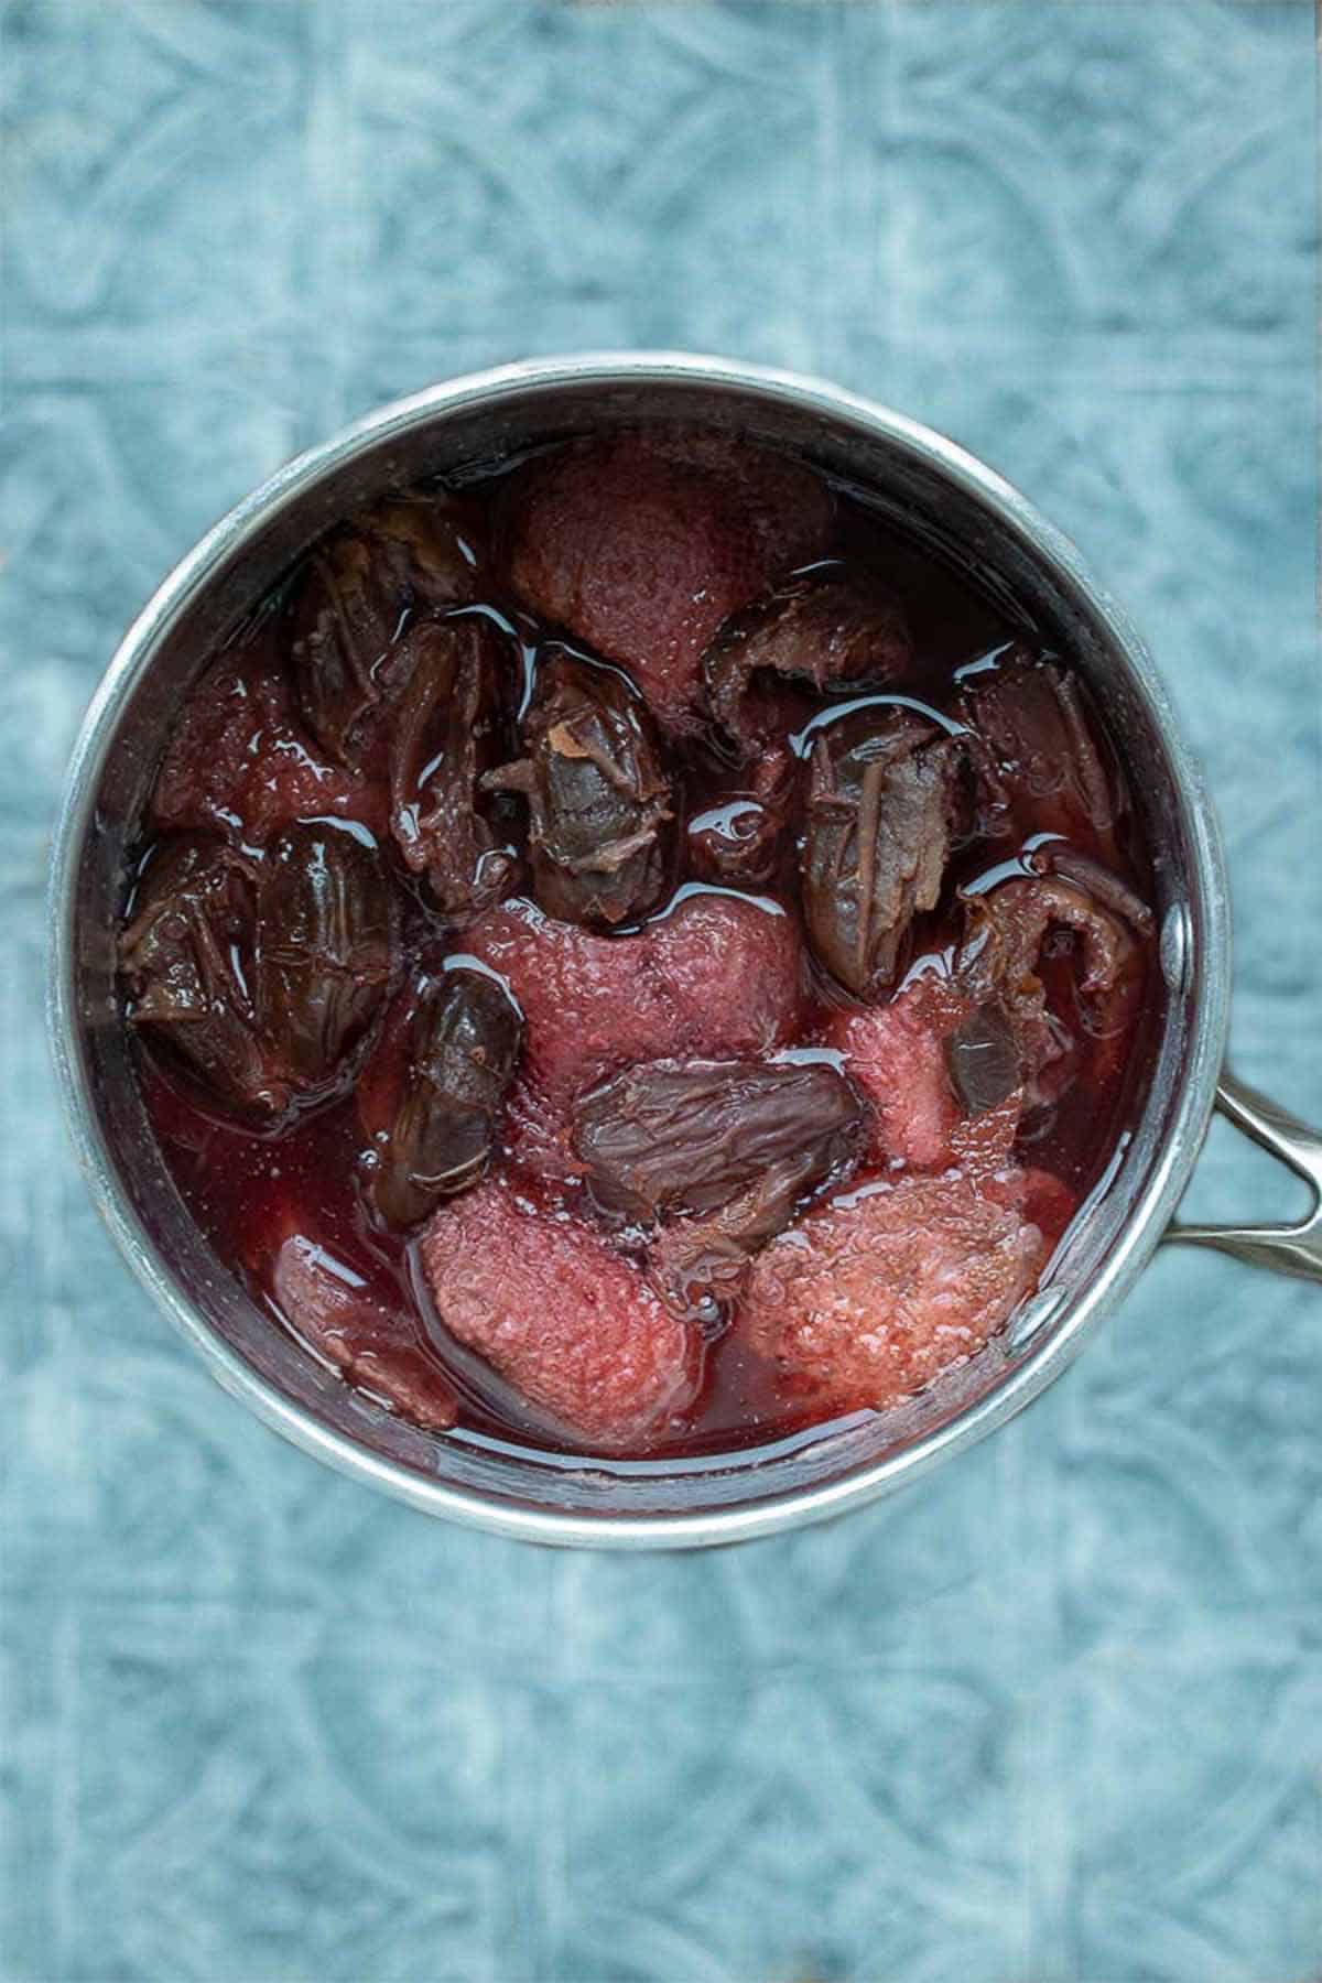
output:
POLYGON ((995 575, 650 426, 313 547, 178 716, 119 960, 272 1327, 426 1430, 658 1458, 1007 1325, 1142 1093, 1150 894, 995 575))

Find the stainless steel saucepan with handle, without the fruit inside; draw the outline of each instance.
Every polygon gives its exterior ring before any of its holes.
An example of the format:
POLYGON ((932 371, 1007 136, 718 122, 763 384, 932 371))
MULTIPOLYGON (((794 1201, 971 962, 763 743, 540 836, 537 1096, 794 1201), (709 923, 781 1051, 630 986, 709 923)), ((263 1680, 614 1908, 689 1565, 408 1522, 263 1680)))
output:
POLYGON ((1322 1279, 1314 1202, 1296 1227, 1171 1225, 1213 1107, 1322 1192, 1322 1138, 1223 1073, 1231 930, 1211 803, 1152 660, 1060 531, 953 442, 787 373, 686 355, 509 365, 369 414, 281 468, 170 573, 111 660, 73 752, 52 878, 50 1027, 73 1142, 125 1257, 216 1378, 285 1438, 432 1515, 541 1543, 692 1547, 817 1521, 910 1483, 1019 1412, 1124 1299, 1154 1247, 1217 1245, 1322 1279), (327 524, 402 486, 581 432, 706 420, 880 492, 999 573, 1086 674, 1128 759, 1156 857, 1163 1013, 1130 1140, 1041 1291, 981 1356, 902 1410, 719 1461, 605 1463, 432 1438, 349 1390, 272 1327, 210 1253, 157 1150, 115 993, 125 847, 200 666, 327 524))

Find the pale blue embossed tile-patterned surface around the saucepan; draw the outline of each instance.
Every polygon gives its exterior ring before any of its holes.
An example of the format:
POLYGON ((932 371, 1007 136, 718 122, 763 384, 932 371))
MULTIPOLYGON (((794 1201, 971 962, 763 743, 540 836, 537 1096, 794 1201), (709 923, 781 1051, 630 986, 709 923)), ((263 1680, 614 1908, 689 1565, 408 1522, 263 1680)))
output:
MULTIPOLYGON (((50 815, 127 621, 375 401, 531 351, 947 428, 1150 633, 1243 1073, 1322 1118, 1306 4, 10 0, 0 1975, 1304 1983, 1314 1291, 1157 1259, 910 1497, 700 1559, 448 1531, 147 1309, 40 1041, 50 815)), ((1207 1214, 1288 1188, 1229 1132, 1207 1214)))

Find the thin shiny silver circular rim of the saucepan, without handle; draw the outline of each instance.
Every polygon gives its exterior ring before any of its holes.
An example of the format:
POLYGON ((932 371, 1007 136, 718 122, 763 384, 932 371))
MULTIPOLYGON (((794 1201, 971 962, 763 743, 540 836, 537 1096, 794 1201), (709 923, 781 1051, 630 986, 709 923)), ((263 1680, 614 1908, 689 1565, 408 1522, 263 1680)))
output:
POLYGON ((83 718, 54 833, 50 880, 50 990, 48 1029, 61 1103, 73 1148, 97 1210, 121 1253, 174 1327, 204 1356, 212 1376, 232 1396, 248 1404, 260 1420, 295 1446, 327 1461, 341 1473, 369 1481, 422 1509, 470 1527, 505 1537, 551 1545, 597 1549, 702 1547, 735 1543, 779 1529, 801 1527, 844 1513, 910 1483, 1003 1426, 1047 1388, 1080 1352, 1102 1317, 1130 1291, 1189 1182, 1207 1120, 1229 1029, 1231 924, 1225 861, 1215 813, 1203 775, 1183 744, 1169 696, 1161 686, 1146 644, 1124 609, 1088 573, 1074 543, 1048 524, 1039 510, 995 470, 965 452, 945 434, 906 414, 848 393, 825 381, 751 365, 737 359, 680 351, 593 351, 531 359, 468 373, 426 387, 365 414, 331 440, 299 454, 275 470, 258 490, 238 502, 188 551, 157 587, 119 642, 83 718), (470 1493, 383 1458, 313 1418, 275 1384, 260 1376, 186 1299, 159 1259, 107 1148, 91 1083, 79 1051, 75 997, 73 908, 77 865, 101 785, 105 759, 115 744, 127 698, 178 617, 194 603, 216 569, 234 555, 285 504, 313 488, 325 474, 345 466, 369 446, 379 446, 446 414, 472 410, 486 401, 505 401, 521 393, 585 385, 666 385, 702 383, 716 389, 755 393, 769 401, 791 401, 821 412, 825 420, 846 420, 880 438, 904 444, 936 464, 951 482, 979 498, 1027 539, 1039 559, 1052 565, 1106 627, 1110 639, 1142 688, 1167 754, 1175 793, 1189 827, 1197 888, 1193 890, 1191 940, 1197 978, 1193 984, 1189 1043, 1171 1108, 1165 1142, 1152 1164, 1126 1225, 1110 1257, 1076 1297, 1070 1313, 1031 1346, 1017 1366, 981 1400, 947 1424, 836 1481, 791 1487, 741 1507, 700 1509, 658 1515, 579 1515, 553 1507, 496 1501, 470 1493))

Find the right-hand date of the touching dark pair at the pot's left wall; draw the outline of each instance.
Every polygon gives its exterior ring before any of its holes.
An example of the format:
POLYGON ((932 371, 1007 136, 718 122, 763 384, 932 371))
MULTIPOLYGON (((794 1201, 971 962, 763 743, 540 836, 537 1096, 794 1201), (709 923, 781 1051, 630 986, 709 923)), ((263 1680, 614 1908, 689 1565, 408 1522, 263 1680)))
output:
POLYGON ((325 821, 285 827, 258 888, 258 1021, 301 1087, 327 1081, 363 1037, 390 968, 381 855, 325 821))

